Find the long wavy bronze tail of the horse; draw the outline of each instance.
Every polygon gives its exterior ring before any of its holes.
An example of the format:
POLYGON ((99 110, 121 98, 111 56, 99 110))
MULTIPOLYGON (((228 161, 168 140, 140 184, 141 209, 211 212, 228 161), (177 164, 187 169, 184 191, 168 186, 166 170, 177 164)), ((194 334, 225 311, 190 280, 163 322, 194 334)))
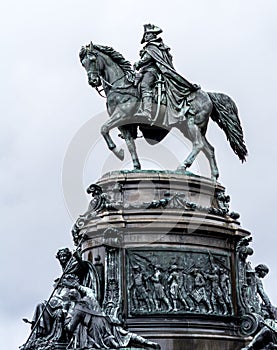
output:
POLYGON ((208 95, 213 103, 212 120, 223 129, 233 151, 244 162, 247 156, 247 148, 244 143, 243 131, 235 102, 225 94, 208 92, 208 95))

